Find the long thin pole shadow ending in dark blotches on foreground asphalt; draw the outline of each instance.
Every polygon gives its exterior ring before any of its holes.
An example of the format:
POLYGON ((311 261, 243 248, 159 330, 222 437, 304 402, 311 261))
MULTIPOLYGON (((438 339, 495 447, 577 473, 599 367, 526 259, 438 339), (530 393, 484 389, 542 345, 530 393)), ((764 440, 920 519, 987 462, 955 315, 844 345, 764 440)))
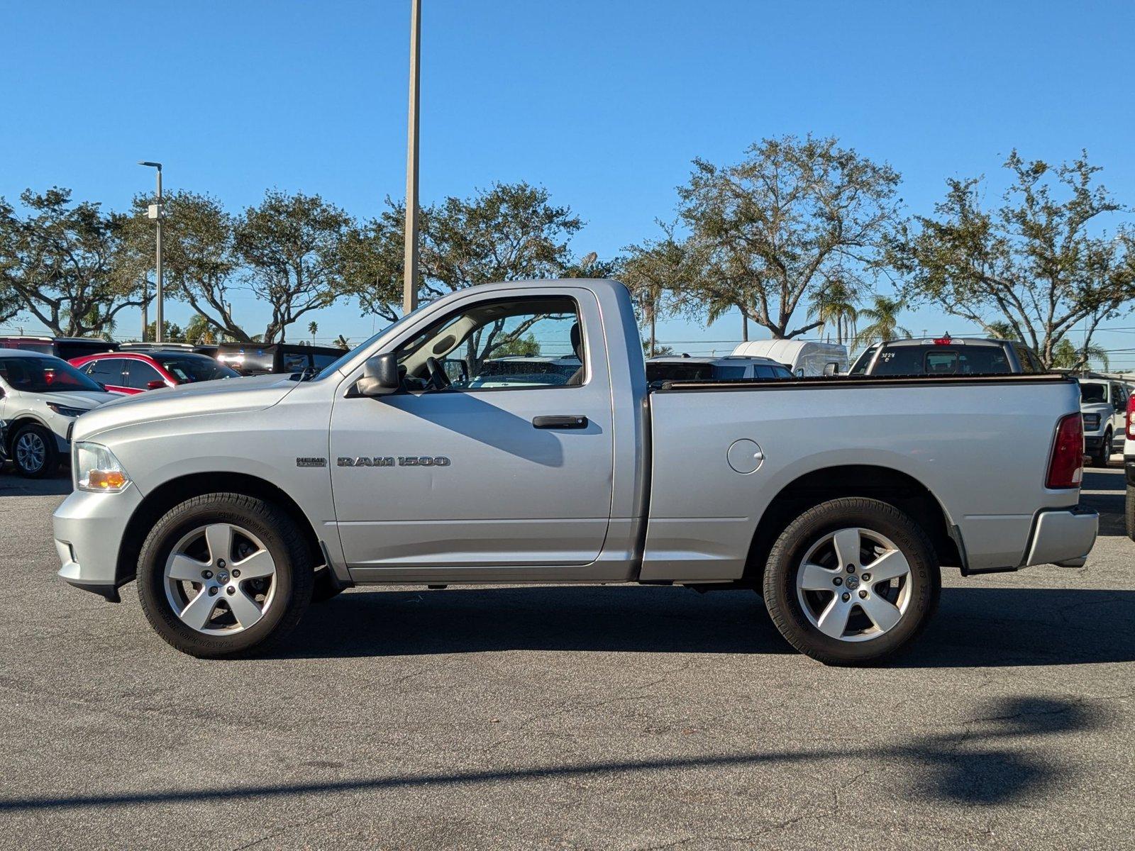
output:
MULTIPOLYGON (((970 804, 999 804, 1042 799, 1065 787, 1077 770, 1039 755, 1041 740, 1069 733, 1113 727, 1116 722, 1102 701, 1051 698, 1012 698, 991 701, 977 715, 955 722, 949 732, 920 735, 892 747, 876 743, 832 749, 799 748, 789 751, 708 753, 690 757, 627 759, 550 765, 486 768, 468 772, 390 774, 262 785, 200 789, 151 790, 144 792, 101 792, 59 797, 0 798, 0 812, 83 810, 140 804, 202 803, 227 804, 249 799, 286 799, 300 795, 329 795, 347 792, 405 791, 445 786, 498 785, 540 781, 572 781, 586 777, 631 775, 629 782, 646 782, 641 775, 687 769, 754 769, 754 783, 760 783, 763 769, 775 770, 800 765, 816 770, 825 761, 858 759, 869 770, 890 772, 889 794, 917 801, 942 800, 970 804), (907 787, 902 776, 913 777, 907 787)), ((1043 747, 1043 745, 1042 745, 1043 747)), ((831 817, 839 817, 839 799, 832 801, 831 817)), ((827 816, 824 816, 827 817, 827 816)))

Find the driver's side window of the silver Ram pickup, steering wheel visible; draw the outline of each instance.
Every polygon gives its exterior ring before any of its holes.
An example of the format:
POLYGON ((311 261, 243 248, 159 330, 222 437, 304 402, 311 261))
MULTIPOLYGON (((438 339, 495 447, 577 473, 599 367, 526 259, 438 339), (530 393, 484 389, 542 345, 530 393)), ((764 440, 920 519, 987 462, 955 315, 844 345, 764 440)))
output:
POLYGON ((398 348, 411 389, 429 385, 428 357, 460 390, 572 387, 583 384, 579 307, 550 296, 482 302, 451 314, 398 348))

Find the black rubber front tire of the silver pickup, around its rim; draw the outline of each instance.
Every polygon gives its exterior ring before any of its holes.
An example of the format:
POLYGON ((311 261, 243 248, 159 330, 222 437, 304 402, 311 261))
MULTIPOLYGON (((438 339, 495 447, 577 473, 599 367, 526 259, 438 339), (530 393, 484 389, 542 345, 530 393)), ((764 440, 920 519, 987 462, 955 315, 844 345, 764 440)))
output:
MULTIPOLYGON (((205 494, 169 509, 153 526, 138 556, 142 610, 154 631, 182 652, 221 658, 264 649, 286 635, 311 603, 310 549, 280 508, 244 494, 205 494), (257 536, 275 562, 274 603, 250 627, 232 635, 197 632, 178 617, 166 595, 165 565, 174 546, 210 523, 229 523, 257 536)), ((224 598, 221 598, 224 599, 224 598)))

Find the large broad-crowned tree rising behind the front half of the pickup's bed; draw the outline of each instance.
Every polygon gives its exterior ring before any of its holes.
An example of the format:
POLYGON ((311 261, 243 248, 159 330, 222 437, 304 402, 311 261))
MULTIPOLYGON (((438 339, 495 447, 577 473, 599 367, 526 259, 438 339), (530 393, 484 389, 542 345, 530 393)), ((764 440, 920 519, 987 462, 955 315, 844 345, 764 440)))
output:
POLYGON ((693 161, 680 213, 704 252, 687 294, 709 321, 737 309, 791 338, 801 302, 839 281, 855 293, 874 273, 898 221, 899 174, 835 138, 766 138, 733 166, 693 161))

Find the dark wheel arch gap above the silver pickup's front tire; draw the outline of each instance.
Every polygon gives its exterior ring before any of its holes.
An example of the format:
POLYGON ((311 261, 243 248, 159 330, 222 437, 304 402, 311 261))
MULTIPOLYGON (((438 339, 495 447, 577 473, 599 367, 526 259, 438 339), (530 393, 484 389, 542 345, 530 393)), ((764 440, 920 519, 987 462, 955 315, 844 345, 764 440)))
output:
POLYGON ((247 473, 196 472, 162 482, 146 494, 142 503, 134 509, 118 547, 118 562, 115 571, 116 587, 134 579, 142 544, 158 519, 175 505, 204 494, 243 494, 278 505, 295 522, 308 546, 312 564, 319 565, 326 561, 319 536, 311 525, 311 521, 285 490, 266 479, 247 473))

